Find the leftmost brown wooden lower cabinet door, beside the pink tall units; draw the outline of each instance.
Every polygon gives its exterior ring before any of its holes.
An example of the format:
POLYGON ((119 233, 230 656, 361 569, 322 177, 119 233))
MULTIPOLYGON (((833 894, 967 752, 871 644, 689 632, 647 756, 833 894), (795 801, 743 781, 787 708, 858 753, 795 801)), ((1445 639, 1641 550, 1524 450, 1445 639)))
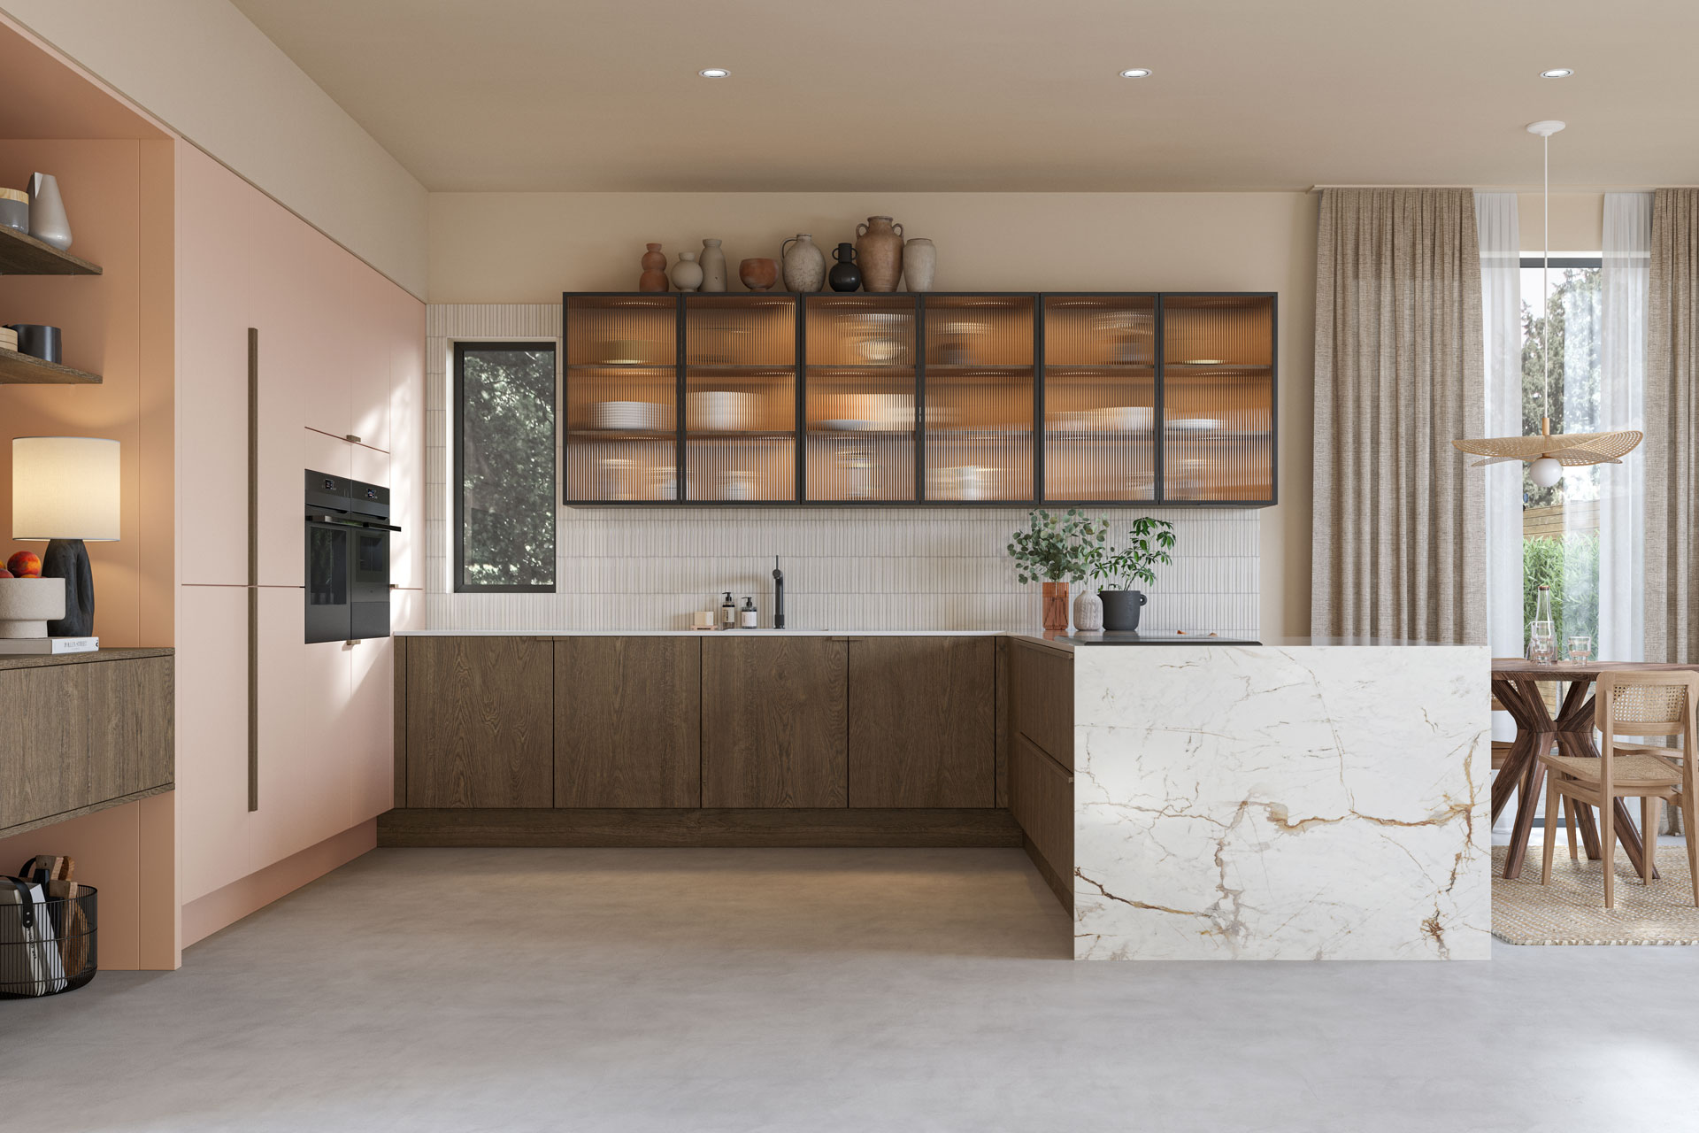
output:
POLYGON ((554 805, 554 649, 408 639, 408 805, 554 805))

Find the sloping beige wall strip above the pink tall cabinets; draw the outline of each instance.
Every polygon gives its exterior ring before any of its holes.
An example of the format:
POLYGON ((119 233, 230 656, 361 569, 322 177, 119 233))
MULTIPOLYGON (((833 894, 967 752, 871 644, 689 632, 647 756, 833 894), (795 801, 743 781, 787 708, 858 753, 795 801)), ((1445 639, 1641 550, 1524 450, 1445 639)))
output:
POLYGON ((0 10, 425 296, 425 187, 228 0, 0 0, 0 10))

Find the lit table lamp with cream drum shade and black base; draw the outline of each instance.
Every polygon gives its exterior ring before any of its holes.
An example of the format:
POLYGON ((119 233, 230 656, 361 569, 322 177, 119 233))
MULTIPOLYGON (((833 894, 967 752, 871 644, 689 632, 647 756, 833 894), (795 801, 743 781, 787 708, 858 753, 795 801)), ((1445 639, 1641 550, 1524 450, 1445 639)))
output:
POLYGON ((12 438, 12 538, 48 540, 42 578, 65 579, 49 637, 90 637, 95 589, 85 538, 119 537, 119 445, 104 437, 12 438))

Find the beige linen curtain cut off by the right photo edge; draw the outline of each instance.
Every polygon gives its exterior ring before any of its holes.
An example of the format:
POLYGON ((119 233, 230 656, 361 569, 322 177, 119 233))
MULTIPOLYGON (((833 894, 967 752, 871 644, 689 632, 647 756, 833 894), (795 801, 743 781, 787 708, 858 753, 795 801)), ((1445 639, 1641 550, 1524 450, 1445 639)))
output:
POLYGON ((1651 197, 1646 661, 1699 661, 1699 189, 1651 197))

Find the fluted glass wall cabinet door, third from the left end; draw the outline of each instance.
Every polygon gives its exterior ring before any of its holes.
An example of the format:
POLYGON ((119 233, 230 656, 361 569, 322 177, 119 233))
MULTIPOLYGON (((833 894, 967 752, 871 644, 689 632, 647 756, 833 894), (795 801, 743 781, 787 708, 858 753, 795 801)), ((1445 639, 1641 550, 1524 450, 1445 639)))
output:
POLYGON ((809 501, 916 493, 916 297, 807 296, 804 389, 809 501))

